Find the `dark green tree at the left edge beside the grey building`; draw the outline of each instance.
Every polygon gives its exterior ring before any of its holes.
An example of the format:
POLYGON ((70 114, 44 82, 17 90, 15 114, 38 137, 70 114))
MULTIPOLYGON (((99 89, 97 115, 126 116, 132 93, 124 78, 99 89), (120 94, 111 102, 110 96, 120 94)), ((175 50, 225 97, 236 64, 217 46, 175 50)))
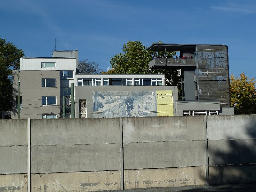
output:
POLYGON ((0 37, 0 112, 12 104, 12 70, 19 69, 24 51, 0 37))

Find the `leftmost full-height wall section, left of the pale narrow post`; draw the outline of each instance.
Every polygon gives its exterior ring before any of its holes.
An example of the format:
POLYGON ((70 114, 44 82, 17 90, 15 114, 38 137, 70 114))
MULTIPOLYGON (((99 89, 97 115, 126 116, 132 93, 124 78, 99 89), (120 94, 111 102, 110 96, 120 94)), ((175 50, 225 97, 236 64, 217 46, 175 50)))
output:
POLYGON ((0 120, 0 191, 27 191, 27 119, 0 120))

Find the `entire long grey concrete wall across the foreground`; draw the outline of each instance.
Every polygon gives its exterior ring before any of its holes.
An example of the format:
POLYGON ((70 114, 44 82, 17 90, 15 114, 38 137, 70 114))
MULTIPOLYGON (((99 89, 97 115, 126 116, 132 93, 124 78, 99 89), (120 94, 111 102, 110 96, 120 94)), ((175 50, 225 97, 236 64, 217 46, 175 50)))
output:
POLYGON ((0 133, 4 191, 256 181, 256 115, 2 119, 0 133))

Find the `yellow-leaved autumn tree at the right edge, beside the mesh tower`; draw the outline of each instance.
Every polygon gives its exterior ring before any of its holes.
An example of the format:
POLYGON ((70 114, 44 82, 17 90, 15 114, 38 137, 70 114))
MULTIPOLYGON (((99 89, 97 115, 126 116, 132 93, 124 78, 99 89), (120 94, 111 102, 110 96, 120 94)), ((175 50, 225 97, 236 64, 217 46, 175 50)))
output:
POLYGON ((256 114, 255 82, 255 78, 248 78, 244 72, 240 77, 230 76, 230 97, 234 114, 256 114))

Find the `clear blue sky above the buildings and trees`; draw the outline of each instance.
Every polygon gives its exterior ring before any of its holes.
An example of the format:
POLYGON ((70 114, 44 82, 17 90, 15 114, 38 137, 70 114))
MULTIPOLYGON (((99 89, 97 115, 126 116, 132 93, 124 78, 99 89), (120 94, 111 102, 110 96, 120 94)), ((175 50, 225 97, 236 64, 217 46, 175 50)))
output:
POLYGON ((129 40, 228 45, 230 74, 256 77, 256 1, 1 0, 0 37, 27 57, 79 51, 106 70, 129 40))

